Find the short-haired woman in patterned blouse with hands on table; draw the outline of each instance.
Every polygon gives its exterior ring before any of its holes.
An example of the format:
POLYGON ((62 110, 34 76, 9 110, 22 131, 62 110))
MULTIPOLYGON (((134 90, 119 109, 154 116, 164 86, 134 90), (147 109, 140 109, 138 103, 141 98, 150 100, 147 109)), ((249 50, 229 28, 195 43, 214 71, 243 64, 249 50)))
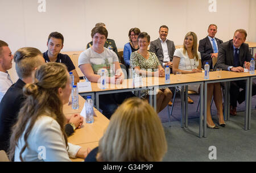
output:
MULTIPOLYGON (((141 32, 138 36, 139 50, 131 53, 130 66, 133 70, 133 75, 139 74, 142 76, 164 77, 164 69, 160 65, 155 53, 148 52, 147 48, 150 45, 150 36, 147 32, 141 32), (147 69, 147 70, 145 70, 147 69), (148 71, 148 69, 151 69, 148 71)), ((141 91, 142 96, 148 99, 148 90, 141 91)), ((172 98, 172 92, 169 88, 157 90, 156 94, 156 112, 162 111, 172 98)))

